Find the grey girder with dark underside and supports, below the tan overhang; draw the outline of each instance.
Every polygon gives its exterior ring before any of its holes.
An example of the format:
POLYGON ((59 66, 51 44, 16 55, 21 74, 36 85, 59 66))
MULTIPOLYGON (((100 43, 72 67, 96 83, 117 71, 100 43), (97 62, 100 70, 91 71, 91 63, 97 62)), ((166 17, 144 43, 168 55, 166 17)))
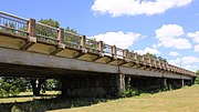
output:
POLYGON ((158 70, 128 69, 4 48, 0 48, 0 75, 60 79, 62 94, 70 98, 117 96, 128 83, 146 90, 192 83, 191 77, 158 70))

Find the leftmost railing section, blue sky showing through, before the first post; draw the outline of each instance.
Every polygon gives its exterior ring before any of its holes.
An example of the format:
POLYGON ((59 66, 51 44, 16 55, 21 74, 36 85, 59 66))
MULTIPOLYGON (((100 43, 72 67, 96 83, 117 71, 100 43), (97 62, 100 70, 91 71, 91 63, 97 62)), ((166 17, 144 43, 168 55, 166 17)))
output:
POLYGON ((0 31, 19 37, 28 37, 28 20, 0 11, 0 31))

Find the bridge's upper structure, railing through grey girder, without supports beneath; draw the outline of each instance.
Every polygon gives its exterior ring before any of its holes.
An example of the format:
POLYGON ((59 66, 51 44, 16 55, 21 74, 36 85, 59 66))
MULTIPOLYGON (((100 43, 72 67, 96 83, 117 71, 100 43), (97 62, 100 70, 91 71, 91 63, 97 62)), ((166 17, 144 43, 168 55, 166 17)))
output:
POLYGON ((0 12, 0 67, 6 64, 174 79, 196 77, 195 72, 157 59, 65 32, 34 19, 0 12))

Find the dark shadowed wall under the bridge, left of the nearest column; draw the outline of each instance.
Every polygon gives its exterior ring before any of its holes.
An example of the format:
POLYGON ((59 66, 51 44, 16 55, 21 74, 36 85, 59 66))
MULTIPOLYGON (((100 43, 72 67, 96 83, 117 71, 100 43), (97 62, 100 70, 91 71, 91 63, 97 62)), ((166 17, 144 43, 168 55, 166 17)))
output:
POLYGON ((70 98, 117 95, 117 75, 71 75, 62 78, 62 95, 70 98))

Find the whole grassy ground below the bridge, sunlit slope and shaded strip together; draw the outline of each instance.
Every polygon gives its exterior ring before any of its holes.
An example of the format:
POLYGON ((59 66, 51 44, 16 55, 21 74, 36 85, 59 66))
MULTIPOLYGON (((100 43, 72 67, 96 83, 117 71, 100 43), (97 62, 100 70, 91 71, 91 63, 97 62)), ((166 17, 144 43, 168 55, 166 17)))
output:
POLYGON ((51 99, 57 92, 33 98, 20 93, 17 98, 0 99, 0 111, 15 112, 199 112, 199 84, 179 90, 140 94, 117 100, 51 99))

